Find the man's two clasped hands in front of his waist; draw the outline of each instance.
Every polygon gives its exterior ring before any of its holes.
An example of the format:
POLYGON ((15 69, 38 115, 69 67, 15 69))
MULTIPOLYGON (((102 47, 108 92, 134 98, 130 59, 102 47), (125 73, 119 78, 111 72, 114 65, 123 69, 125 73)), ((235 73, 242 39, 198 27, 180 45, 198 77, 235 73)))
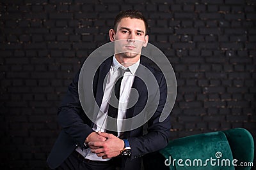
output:
POLYGON ((120 155, 124 149, 124 141, 106 132, 92 132, 86 138, 91 151, 102 159, 109 159, 120 155))

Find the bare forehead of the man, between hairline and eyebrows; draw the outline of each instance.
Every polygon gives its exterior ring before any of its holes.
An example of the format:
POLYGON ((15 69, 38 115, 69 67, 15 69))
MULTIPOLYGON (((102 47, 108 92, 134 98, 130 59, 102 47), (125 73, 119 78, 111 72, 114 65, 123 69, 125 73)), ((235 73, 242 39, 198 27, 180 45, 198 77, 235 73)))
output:
POLYGON ((126 27, 129 29, 135 29, 135 30, 141 30, 145 31, 145 23, 143 20, 137 19, 137 18, 122 18, 120 22, 117 25, 117 29, 120 29, 121 27, 126 27))

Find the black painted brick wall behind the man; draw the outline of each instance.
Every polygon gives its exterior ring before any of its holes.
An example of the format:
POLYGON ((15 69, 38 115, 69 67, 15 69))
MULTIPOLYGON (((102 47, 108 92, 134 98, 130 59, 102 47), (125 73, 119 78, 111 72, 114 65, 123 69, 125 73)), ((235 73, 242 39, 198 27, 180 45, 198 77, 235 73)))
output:
MULTIPOLYGON (((244 127, 256 135, 256 1, 2 0, 1 167, 47 169, 57 108, 120 10, 143 11, 177 76, 172 139, 244 127)), ((2 168, 1 168, 2 169, 2 168)))

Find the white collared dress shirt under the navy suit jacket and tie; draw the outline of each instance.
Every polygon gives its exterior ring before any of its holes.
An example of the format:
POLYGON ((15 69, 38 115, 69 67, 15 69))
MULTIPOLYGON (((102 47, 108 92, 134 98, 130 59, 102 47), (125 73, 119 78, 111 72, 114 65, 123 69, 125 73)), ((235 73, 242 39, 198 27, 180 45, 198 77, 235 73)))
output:
MULTIPOLYGON (((121 81, 121 87, 120 87, 120 97, 119 97, 119 104, 118 104, 118 115, 117 115, 117 131, 118 131, 118 137, 122 136, 122 127, 123 127, 123 120, 125 119, 125 113, 127 109, 127 104, 129 101, 129 96, 131 92, 132 83, 134 81, 134 76, 136 73, 136 70, 138 69, 138 66, 140 64, 140 59, 138 62, 132 64, 129 67, 122 66, 115 58, 113 57, 113 64, 110 67, 109 73, 107 74, 107 82, 106 87, 104 90, 104 95, 102 98, 102 103, 100 105, 100 111, 97 115, 95 126, 93 127, 93 131, 101 131, 106 132, 106 125, 108 122, 107 116, 108 116, 108 101, 111 96, 111 92, 113 90, 113 87, 115 85, 116 79, 118 78, 118 68, 121 67, 122 69, 128 69, 129 71, 125 71, 124 78, 121 81)), ((90 160, 101 160, 106 161, 109 159, 102 159, 101 157, 98 157, 95 153, 92 153, 90 148, 81 150, 80 147, 76 148, 76 151, 79 152, 81 155, 83 155, 84 158, 90 159, 90 160)))

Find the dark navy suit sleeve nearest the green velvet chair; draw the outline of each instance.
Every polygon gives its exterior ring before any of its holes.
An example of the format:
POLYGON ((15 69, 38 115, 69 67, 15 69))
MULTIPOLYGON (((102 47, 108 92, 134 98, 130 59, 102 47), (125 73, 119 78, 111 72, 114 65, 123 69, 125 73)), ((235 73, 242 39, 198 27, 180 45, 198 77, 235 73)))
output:
POLYGON ((168 113, 169 116, 163 122, 159 122, 167 96, 166 81, 163 74, 159 83, 159 90, 159 103, 156 112, 148 120, 148 133, 145 136, 128 138, 132 150, 131 159, 142 157, 146 153, 156 152, 168 144, 168 136, 171 128, 170 113, 168 113))

